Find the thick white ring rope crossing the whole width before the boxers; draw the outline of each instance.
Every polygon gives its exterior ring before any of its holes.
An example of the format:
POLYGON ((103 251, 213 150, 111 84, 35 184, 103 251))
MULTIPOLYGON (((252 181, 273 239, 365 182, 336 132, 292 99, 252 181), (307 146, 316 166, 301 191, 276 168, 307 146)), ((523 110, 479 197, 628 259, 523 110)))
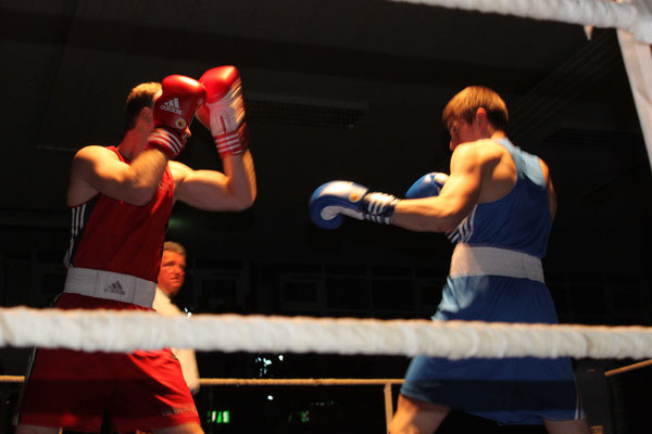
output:
POLYGON ((652 358, 652 328, 239 315, 0 309, 0 346, 131 352, 652 358))

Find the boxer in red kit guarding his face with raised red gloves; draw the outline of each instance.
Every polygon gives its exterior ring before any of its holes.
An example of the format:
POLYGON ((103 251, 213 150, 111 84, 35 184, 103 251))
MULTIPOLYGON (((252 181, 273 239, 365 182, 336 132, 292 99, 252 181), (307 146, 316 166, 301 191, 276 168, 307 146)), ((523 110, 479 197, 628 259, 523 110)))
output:
MULTIPOLYGON (((255 199, 238 71, 198 81, 173 75, 134 88, 116 146, 90 145, 72 164, 68 268, 61 309, 153 310, 165 230, 176 201, 205 210, 242 210, 255 199), (198 111, 199 108, 199 111, 198 111), (193 116, 211 128, 224 171, 175 162, 193 116)), ((170 349, 83 353, 38 349, 30 361, 16 433, 61 427, 98 432, 201 433, 195 403, 170 349)))

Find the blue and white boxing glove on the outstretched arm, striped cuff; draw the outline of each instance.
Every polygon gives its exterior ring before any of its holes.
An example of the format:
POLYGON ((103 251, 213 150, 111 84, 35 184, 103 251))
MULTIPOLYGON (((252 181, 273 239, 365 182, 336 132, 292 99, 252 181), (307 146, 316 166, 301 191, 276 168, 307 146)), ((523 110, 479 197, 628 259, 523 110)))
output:
POLYGON ((310 219, 322 229, 337 229, 343 216, 389 225, 399 199, 391 194, 371 192, 364 186, 349 181, 326 182, 314 191, 308 208, 310 219))

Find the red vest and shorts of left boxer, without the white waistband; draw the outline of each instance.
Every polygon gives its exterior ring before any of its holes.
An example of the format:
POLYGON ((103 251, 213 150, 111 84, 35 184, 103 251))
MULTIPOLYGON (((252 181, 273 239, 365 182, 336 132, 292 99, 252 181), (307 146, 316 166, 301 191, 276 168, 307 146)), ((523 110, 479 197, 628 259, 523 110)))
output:
MULTIPOLYGON (((109 149, 125 161, 115 148, 109 149)), ((145 206, 97 194, 72 208, 68 268, 121 272, 155 282, 173 193, 166 168, 156 194, 145 206)), ((62 294, 55 307, 153 310, 71 293, 62 294)), ((104 411, 116 432, 199 423, 180 365, 170 349, 133 354, 39 349, 30 361, 22 400, 14 419, 21 425, 98 432, 104 411)))

